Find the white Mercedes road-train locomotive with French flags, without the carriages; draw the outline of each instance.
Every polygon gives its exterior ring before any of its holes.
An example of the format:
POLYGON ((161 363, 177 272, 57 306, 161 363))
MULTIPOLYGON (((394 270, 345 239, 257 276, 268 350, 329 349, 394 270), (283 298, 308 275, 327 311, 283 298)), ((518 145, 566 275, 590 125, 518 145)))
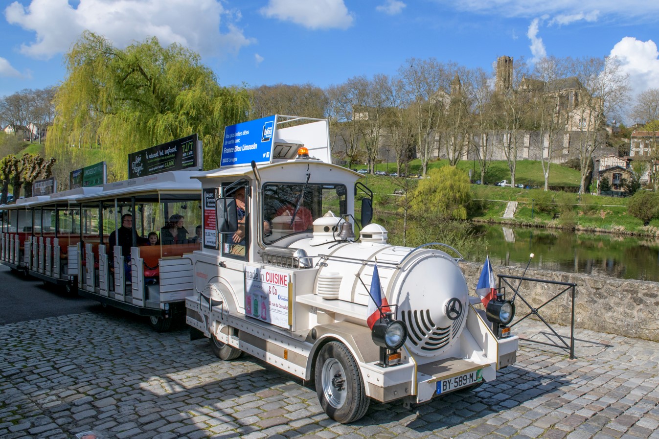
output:
POLYGON ((246 352, 315 380, 341 423, 360 419, 370 399, 422 403, 515 362, 518 339, 505 327, 514 307, 497 297, 488 318, 477 311, 453 256, 387 244, 387 231, 368 224, 369 196, 355 240, 355 198, 368 189, 331 164, 326 121, 227 127, 222 161, 196 176, 204 245, 186 299, 186 321, 220 359, 246 352), (388 306, 370 328, 377 285, 388 306))

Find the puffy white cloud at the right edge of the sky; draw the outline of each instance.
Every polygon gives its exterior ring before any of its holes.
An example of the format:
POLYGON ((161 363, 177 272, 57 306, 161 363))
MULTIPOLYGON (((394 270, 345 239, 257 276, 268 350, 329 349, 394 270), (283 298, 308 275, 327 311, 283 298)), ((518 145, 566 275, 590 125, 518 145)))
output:
POLYGON ((623 71, 629 73, 633 94, 659 88, 659 51, 652 40, 625 37, 611 49, 611 56, 617 57, 623 71))

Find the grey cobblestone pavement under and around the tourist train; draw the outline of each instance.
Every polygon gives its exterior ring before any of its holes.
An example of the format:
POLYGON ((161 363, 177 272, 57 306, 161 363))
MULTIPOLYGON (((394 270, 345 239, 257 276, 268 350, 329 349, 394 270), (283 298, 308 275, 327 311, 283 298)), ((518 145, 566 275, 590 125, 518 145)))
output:
MULTIPOLYGON (((547 341, 535 322, 517 333, 547 341)), ((565 328, 563 328, 565 330, 565 328)), ((659 438, 659 343, 578 330, 570 360, 521 341, 517 364, 478 390, 415 409, 372 403, 331 421, 316 392, 244 355, 218 361, 180 328, 121 312, 0 326, 0 438, 659 438)))

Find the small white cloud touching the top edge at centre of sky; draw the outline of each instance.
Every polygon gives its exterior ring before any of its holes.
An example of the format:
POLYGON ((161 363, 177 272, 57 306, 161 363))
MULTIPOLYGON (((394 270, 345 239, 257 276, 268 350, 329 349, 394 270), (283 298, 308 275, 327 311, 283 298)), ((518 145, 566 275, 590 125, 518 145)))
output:
POLYGON ((343 0, 270 0, 260 12, 268 18, 291 21, 312 30, 347 29, 354 21, 343 0))

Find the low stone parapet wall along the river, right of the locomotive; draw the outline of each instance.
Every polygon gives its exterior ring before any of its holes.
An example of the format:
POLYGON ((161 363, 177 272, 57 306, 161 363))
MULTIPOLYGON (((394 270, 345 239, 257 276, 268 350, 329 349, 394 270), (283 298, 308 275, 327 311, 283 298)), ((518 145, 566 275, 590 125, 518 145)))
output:
MULTIPOLYGON (((460 262, 470 291, 476 289, 482 264, 460 262)), ((523 268, 493 266, 494 275, 522 276, 523 268)), ((579 273, 554 272, 529 268, 525 278, 576 283, 575 328, 606 332, 626 337, 659 341, 659 283, 629 279, 590 276, 579 273)), ((498 278, 496 279, 499 280, 498 278)), ((517 287, 519 280, 510 280, 517 287)), ((563 291, 563 285, 524 281, 519 293, 532 307, 563 291)), ((506 289, 507 295, 512 291, 506 289)), ((529 307, 515 299, 515 320, 529 313, 529 307)), ((571 292, 567 291, 546 305, 539 314, 551 323, 570 324, 571 292)))

